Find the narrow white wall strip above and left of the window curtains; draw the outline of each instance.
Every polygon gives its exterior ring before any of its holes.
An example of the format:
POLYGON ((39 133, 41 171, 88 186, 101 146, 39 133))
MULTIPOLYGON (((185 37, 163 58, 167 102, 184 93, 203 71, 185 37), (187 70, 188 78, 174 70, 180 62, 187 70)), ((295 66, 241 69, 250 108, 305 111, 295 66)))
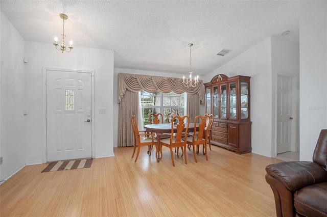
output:
MULTIPOLYGON (((143 71, 143 70, 133 70, 133 69, 122 69, 114 68, 114 77, 113 77, 113 141, 114 147, 118 146, 118 115, 119 115, 119 103, 118 103, 118 73, 127 73, 127 74, 143 74, 143 75, 153 75, 153 76, 163 76, 163 77, 180 77, 181 74, 173 74, 166 72, 156 72, 156 71, 143 71)), ((185 72, 187 74, 188 72, 185 72)), ((201 79, 201 78, 200 78, 201 79)), ((204 111, 204 110, 203 110, 204 111)))

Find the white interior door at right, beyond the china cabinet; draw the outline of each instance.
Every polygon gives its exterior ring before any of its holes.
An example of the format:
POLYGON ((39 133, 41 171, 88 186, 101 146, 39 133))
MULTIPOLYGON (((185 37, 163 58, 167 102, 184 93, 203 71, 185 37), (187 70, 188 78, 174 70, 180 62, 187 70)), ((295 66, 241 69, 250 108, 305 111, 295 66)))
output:
POLYGON ((292 78, 277 76, 277 154, 291 151, 292 78))

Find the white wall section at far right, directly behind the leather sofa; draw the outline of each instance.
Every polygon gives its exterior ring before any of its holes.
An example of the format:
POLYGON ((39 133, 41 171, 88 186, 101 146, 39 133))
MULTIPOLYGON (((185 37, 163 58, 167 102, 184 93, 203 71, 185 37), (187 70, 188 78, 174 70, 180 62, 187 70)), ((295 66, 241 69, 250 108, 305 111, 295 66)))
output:
POLYGON ((300 2, 300 160, 327 128, 327 2, 300 2))

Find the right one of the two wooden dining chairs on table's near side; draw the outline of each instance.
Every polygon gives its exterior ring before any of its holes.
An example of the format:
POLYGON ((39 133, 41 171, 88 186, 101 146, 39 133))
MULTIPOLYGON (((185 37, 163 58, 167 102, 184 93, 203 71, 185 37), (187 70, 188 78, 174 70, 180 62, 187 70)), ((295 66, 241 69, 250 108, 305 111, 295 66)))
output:
MULTIPOLYGON (((198 153, 198 147, 200 145, 204 146, 205 149, 205 158, 208 160, 208 153, 207 153, 207 134, 208 134, 208 127, 205 128, 206 125, 210 125, 211 120, 209 115, 198 115, 194 119, 194 133, 192 137, 187 137, 186 143, 189 146, 193 146, 193 155, 195 162, 198 162, 196 155, 198 153), (197 122, 199 120, 199 127, 197 128, 197 122)), ((190 147, 189 147, 190 149, 190 147)))

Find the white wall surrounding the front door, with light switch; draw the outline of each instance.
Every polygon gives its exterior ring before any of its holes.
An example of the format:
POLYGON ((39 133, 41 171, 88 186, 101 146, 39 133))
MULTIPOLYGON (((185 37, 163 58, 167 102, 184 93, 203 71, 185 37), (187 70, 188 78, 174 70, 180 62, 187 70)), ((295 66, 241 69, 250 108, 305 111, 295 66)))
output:
POLYGON ((69 53, 61 53, 51 43, 26 42, 29 62, 26 73, 27 164, 45 162, 42 149, 44 117, 42 116, 42 67, 95 71, 95 157, 113 156, 113 51, 75 46, 69 53), (99 114, 106 108, 106 114, 99 114))

